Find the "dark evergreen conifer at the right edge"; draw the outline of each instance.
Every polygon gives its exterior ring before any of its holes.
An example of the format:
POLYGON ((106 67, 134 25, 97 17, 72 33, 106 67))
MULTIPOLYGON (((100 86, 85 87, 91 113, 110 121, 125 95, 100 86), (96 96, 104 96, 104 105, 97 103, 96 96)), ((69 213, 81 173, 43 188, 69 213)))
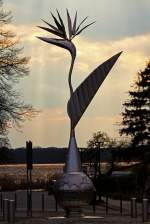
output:
POLYGON ((133 90, 129 91, 122 113, 123 128, 120 134, 131 137, 133 146, 150 144, 150 61, 137 73, 133 90))

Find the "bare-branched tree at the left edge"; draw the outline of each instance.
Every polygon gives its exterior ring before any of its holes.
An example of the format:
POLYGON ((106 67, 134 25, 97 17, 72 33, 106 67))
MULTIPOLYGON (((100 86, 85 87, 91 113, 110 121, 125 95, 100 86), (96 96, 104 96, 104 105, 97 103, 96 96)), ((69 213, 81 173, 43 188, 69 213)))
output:
POLYGON ((0 0, 0 145, 7 145, 10 127, 20 127, 20 122, 33 115, 34 109, 26 105, 16 91, 20 78, 28 75, 29 58, 21 55, 22 48, 13 32, 7 29, 11 12, 3 9, 0 0))

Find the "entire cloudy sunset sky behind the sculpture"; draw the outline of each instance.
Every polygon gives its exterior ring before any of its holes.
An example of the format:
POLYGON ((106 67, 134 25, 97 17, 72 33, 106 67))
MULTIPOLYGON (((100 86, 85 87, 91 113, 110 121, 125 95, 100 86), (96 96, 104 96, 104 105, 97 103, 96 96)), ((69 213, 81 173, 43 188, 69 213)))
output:
POLYGON ((87 22, 96 21, 77 38, 77 58, 72 74, 74 89, 99 64, 123 51, 117 63, 100 87, 93 101, 76 127, 77 144, 85 147, 94 132, 107 132, 119 139, 122 104, 136 74, 144 69, 150 56, 150 1, 149 0, 4 0, 5 9, 13 14, 9 28, 30 56, 30 74, 16 87, 26 103, 41 112, 23 124, 21 131, 12 128, 9 138, 12 147, 34 146, 67 147, 69 141, 68 70, 70 55, 56 46, 48 45, 36 36, 53 37, 37 26, 41 19, 52 23, 50 11, 59 10, 66 23, 66 8, 78 23, 86 16, 87 22))

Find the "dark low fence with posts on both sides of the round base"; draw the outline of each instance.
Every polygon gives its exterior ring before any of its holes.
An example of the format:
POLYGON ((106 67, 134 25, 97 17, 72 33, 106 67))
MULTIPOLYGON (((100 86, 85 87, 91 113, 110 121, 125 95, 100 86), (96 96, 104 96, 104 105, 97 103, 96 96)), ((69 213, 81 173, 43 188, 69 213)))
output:
MULTIPOLYGON (((32 192, 32 209, 33 215, 44 215, 46 212, 62 212, 63 209, 59 207, 55 197, 48 195, 45 191, 32 192)), ((105 214, 117 216, 128 215, 134 219, 139 218, 145 222, 149 219, 149 201, 143 199, 142 202, 137 202, 136 198, 131 198, 131 201, 113 200, 109 196, 102 197, 102 201, 88 206, 88 211, 94 215, 105 214)), ((26 191, 16 192, 1 192, 0 194, 0 208, 1 216, 4 221, 14 222, 15 214, 24 214, 27 216, 27 194, 26 191)), ((58 213, 59 214, 59 213, 58 213)))

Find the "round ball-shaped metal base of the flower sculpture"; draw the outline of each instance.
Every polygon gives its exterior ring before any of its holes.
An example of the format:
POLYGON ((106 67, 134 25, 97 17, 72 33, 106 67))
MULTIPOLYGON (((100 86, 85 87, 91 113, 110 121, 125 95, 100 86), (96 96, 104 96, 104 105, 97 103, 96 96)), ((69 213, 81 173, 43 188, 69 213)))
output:
POLYGON ((82 207, 89 204, 94 196, 94 186, 89 177, 83 172, 65 173, 54 186, 55 197, 66 211, 82 216, 82 207))

